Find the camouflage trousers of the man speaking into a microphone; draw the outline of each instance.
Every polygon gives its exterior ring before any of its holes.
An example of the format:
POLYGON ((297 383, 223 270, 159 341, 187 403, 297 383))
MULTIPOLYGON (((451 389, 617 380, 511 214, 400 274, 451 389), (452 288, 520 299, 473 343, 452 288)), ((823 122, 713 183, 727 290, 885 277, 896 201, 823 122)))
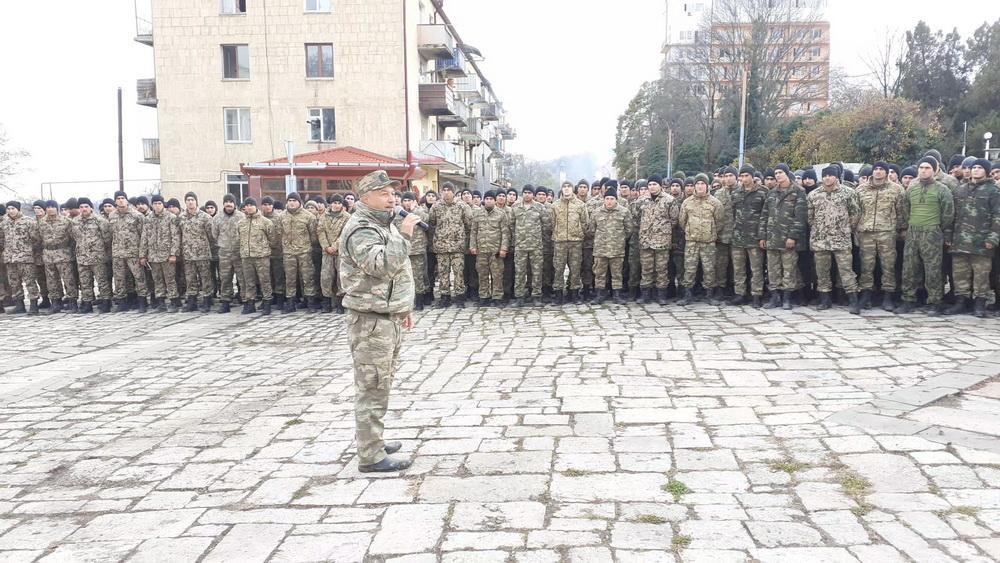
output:
POLYGON ((389 389, 403 344, 403 327, 388 315, 350 310, 347 342, 354 361, 358 463, 370 465, 382 461, 386 455, 382 417, 389 408, 389 389))

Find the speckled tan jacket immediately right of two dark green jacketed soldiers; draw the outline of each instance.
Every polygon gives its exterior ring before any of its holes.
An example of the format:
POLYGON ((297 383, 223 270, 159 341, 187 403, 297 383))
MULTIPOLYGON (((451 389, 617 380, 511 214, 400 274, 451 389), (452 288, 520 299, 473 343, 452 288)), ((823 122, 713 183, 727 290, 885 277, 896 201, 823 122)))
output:
POLYGON ((813 190, 806 197, 809 247, 812 250, 850 250, 851 234, 861 218, 854 192, 838 185, 832 191, 813 190))

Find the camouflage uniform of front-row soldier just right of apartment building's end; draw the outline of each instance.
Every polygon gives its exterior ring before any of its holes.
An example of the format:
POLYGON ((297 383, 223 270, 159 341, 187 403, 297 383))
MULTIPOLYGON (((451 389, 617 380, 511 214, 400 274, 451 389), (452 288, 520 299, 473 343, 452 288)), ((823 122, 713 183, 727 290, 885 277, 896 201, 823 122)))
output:
POLYGON ((551 230, 552 216, 537 201, 529 205, 520 201, 511 211, 514 218, 511 226, 514 240, 514 297, 523 299, 527 296, 529 286, 532 296, 540 297, 543 285, 543 234, 546 230, 551 230))

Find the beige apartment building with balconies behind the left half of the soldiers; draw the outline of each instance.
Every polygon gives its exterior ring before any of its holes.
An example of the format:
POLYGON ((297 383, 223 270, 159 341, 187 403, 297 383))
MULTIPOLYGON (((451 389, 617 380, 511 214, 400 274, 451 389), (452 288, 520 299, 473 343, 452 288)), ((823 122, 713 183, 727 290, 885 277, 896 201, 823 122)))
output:
POLYGON ((164 195, 506 186, 514 130, 441 0, 136 0, 136 41, 164 195))

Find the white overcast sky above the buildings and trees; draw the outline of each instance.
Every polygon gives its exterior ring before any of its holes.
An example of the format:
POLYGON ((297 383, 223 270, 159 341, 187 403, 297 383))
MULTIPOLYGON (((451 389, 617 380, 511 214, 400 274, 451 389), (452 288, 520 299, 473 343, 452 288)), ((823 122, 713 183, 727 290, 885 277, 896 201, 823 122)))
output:
MULTIPOLYGON (((0 124, 14 146, 32 153, 30 170, 13 182, 23 196, 36 197, 41 182, 117 178, 119 86, 125 176, 158 177, 157 166, 140 162, 141 139, 157 136, 156 110, 135 103, 136 79, 153 76, 152 49, 133 41, 132 0, 102 2, 99 18, 93 6, 0 0, 0 124)), ((642 82, 658 76, 664 6, 663 0, 445 0, 462 38, 486 57, 482 67, 518 131, 509 148, 536 159, 593 152, 602 161, 611 158, 619 114, 642 82)), ((1000 18, 995 6, 830 0, 833 64, 863 74, 861 53, 887 29, 910 29, 920 19, 935 29, 958 27, 967 37, 1000 18)), ((54 195, 114 189, 113 183, 56 185, 54 195)))

